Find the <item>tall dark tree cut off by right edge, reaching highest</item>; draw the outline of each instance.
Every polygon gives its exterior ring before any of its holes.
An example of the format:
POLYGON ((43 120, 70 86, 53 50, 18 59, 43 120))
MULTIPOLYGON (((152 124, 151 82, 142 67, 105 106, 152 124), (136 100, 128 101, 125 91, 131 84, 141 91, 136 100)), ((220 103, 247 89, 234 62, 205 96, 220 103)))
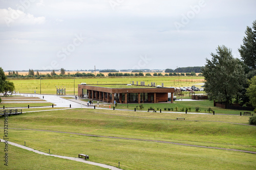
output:
POLYGON ((238 50, 244 63, 251 69, 256 69, 256 20, 252 22, 252 28, 245 31, 243 45, 238 50))

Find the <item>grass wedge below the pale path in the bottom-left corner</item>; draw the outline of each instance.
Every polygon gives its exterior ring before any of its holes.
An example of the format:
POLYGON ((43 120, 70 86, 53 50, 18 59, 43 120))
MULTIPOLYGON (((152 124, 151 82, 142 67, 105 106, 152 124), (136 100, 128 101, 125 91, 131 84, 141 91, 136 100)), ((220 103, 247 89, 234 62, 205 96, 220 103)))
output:
MULTIPOLYGON (((4 156, 5 144, 3 142, 0 142, 0 148, 1 156, 4 156)), ((8 144, 8 152, 6 153, 8 153, 8 166, 4 165, 4 161, 1 161, 0 169, 105 169, 82 162, 40 155, 10 144, 8 144)), ((3 157, 2 160, 4 160, 3 157)))

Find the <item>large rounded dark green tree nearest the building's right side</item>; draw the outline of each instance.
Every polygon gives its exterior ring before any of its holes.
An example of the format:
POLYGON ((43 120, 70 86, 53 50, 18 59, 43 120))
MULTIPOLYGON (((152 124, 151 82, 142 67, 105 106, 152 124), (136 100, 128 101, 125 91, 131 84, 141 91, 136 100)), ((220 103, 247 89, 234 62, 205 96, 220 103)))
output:
POLYGON ((206 59, 202 68, 206 81, 204 90, 209 100, 217 99, 227 106, 235 95, 241 95, 246 77, 241 61, 232 57, 229 48, 222 45, 216 51, 217 54, 211 53, 212 59, 206 59))

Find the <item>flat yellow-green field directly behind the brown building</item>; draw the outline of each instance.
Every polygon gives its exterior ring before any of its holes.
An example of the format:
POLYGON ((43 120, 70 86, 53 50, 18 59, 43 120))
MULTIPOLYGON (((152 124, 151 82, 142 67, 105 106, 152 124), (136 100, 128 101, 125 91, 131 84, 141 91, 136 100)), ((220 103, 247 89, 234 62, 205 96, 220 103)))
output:
POLYGON ((161 76, 161 77, 104 77, 104 78, 65 78, 65 79, 8 79, 15 85, 16 92, 19 93, 40 93, 41 94, 56 94, 56 88, 66 88, 66 94, 77 94, 77 85, 80 83, 87 84, 131 84, 138 81, 145 82, 145 85, 155 82, 156 85, 164 83, 164 87, 183 87, 192 86, 203 83, 203 77, 190 77, 190 76, 161 76), (41 82, 41 84, 40 84, 41 82), (75 84, 75 86, 74 86, 75 84), (41 85, 41 86, 40 86, 41 85))

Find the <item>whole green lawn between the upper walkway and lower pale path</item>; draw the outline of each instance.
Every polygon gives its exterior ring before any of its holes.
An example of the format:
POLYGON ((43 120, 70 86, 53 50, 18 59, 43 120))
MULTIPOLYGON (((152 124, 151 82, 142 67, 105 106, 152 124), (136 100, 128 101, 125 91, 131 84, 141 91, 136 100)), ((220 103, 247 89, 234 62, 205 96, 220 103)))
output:
MULTIPOLYGON (((3 118, 0 121, 3 122, 3 118)), ((31 129, 9 129, 12 142, 24 144, 26 141, 28 147, 46 153, 50 149, 51 154, 56 155, 77 157, 78 153, 84 153, 94 162, 112 166, 120 162, 122 169, 256 168, 254 154, 153 141, 256 151, 256 127, 234 124, 248 124, 248 116, 72 109, 11 116, 8 123, 9 128, 31 129), (175 120, 176 117, 185 117, 185 120, 175 120), (48 131, 35 131, 37 129, 48 131)), ((27 151, 21 153, 27 154, 27 151)), ((15 161, 19 159, 24 160, 15 157, 15 161)), ((20 167, 25 169, 26 164, 20 167)))

